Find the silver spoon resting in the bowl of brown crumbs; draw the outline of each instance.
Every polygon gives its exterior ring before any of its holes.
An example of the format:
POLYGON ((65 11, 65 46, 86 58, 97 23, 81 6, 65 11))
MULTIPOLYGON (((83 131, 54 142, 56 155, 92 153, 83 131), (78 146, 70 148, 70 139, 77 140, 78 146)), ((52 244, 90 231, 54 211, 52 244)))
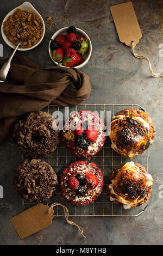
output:
MULTIPOLYGON (((22 27, 22 24, 17 28, 17 32, 16 34, 20 31, 22 27)), ((23 41, 22 39, 20 39, 20 41, 23 41)), ((11 59, 14 57, 14 54, 18 48, 18 46, 21 45, 21 42, 18 42, 17 46, 15 47, 14 49, 14 52, 12 52, 10 58, 7 60, 7 62, 5 62, 0 70, 0 82, 3 83, 5 81, 5 78, 7 77, 8 75, 8 72, 9 72, 9 69, 10 69, 10 66, 11 66, 11 59)))

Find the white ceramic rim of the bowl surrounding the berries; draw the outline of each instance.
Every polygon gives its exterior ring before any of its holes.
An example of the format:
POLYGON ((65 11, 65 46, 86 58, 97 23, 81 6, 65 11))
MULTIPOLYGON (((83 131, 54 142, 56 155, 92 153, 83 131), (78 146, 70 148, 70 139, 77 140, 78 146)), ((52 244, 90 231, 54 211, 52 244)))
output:
MULTIPOLYGON (((67 34, 66 33, 66 29, 67 29, 68 27, 65 27, 65 28, 61 28, 61 29, 59 29, 57 32, 55 32, 53 35, 52 35, 52 38, 51 39, 55 39, 55 38, 57 38, 57 36, 58 35, 65 35, 65 34, 67 34)), ((80 28, 76 28, 77 29, 77 34, 80 36, 84 36, 86 39, 89 39, 90 40, 90 38, 89 38, 89 36, 82 30, 82 29, 80 29, 80 28)), ((51 40, 49 41, 49 46, 48 46, 48 49, 49 49, 49 56, 51 57, 51 59, 52 59, 52 61, 56 64, 56 65, 58 65, 58 62, 55 62, 54 60, 53 60, 53 58, 52 58, 52 54, 51 54, 51 48, 50 48, 50 44, 51 44, 51 40)), ((80 64, 80 65, 78 65, 78 66, 74 66, 74 68, 76 68, 76 69, 80 69, 80 68, 82 68, 88 61, 89 61, 89 59, 90 59, 90 57, 91 57, 91 53, 92 53, 92 44, 91 44, 91 40, 90 40, 90 48, 89 48, 89 51, 88 52, 86 52, 85 54, 84 54, 84 56, 82 56, 84 59, 85 59, 85 61, 82 63, 82 64, 80 64)), ((61 66, 63 66, 63 65, 61 65, 61 66)), ((69 68, 68 66, 63 66, 64 68, 69 68)))

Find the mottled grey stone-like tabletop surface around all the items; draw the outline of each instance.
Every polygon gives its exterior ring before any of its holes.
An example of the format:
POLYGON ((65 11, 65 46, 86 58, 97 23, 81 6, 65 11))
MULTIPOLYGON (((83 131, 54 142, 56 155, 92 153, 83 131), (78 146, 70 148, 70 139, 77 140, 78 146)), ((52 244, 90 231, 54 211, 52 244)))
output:
MULTIPOLYGON (((92 91, 86 103, 137 103, 150 113, 156 126, 156 138, 149 149, 149 172, 154 179, 149 207, 139 217, 77 217, 72 221, 82 225, 86 239, 82 239, 76 227, 66 224, 63 218, 53 221, 51 227, 20 240, 9 218, 23 210, 21 198, 12 186, 12 175, 21 162, 21 154, 11 138, 0 145, 0 185, 4 187, 4 199, 0 199, 1 245, 161 245, 163 198, 159 198, 159 186, 163 185, 162 168, 162 82, 163 78, 149 76, 148 64, 132 56, 130 48, 118 41, 110 5, 124 1, 36 0, 30 1, 46 21, 56 13, 70 22, 57 22, 46 30, 45 38, 34 50, 26 52, 43 66, 52 66, 48 56, 48 42, 52 34, 65 26, 83 29, 92 41, 92 56, 82 68, 90 76, 92 91)), ((0 23, 9 11, 22 1, 0 1, 0 23)), ((163 57, 159 57, 159 45, 163 44, 163 1, 133 1, 142 31, 142 39, 135 51, 151 60, 155 72, 163 71, 163 57)), ((5 45, 4 57, 12 49, 5 45)))

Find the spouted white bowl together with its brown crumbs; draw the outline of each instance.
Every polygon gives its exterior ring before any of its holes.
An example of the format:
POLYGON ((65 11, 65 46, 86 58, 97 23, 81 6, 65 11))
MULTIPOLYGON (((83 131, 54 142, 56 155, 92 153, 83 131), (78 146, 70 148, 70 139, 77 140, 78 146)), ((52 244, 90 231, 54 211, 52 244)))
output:
POLYGON ((2 22, 1 33, 11 48, 21 42, 17 50, 31 50, 43 39, 45 23, 38 11, 29 2, 24 2, 10 11, 2 22))

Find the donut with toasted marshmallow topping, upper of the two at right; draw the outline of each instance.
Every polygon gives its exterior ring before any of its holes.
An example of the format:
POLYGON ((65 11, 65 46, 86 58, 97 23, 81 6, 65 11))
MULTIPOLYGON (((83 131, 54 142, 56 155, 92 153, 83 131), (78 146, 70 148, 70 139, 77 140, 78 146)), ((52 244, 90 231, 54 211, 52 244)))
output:
POLYGON ((147 112, 127 108, 116 113, 111 119, 108 135, 111 148, 118 154, 132 159, 152 145, 155 127, 147 112))

